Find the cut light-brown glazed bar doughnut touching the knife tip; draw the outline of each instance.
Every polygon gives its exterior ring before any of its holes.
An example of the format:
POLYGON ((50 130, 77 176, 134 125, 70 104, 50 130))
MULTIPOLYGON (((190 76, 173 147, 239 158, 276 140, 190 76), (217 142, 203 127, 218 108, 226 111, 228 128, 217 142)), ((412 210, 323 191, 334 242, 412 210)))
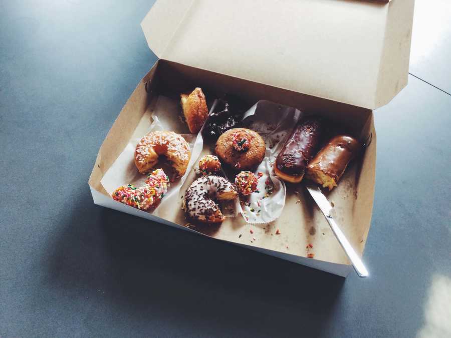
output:
POLYGON ((332 190, 362 144, 346 135, 335 136, 307 166, 306 178, 332 190))

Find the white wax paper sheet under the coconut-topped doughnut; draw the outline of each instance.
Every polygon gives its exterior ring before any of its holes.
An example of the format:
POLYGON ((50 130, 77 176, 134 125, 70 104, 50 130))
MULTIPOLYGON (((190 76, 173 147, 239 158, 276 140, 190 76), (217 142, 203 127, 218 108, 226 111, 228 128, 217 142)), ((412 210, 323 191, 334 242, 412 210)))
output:
MULTIPOLYGON (((147 175, 140 174, 135 166, 135 148, 141 138, 147 133, 154 130, 169 130, 179 133, 188 142, 189 149, 191 150, 191 159, 188 163, 188 168, 183 177, 176 179, 174 182, 170 182, 167 193, 164 195, 161 203, 155 209, 150 209, 154 215, 158 216, 159 211, 166 208, 173 208, 174 198, 177 198, 179 190, 186 180, 188 173, 191 171, 194 163, 197 161, 202 148, 203 140, 201 134, 182 134, 182 131, 186 130, 184 122, 180 119, 179 103, 176 100, 167 98, 165 96, 159 96, 156 100, 155 106, 152 108, 152 115, 150 118, 146 116, 140 122, 138 127, 142 133, 140 135, 134 135, 124 151, 119 155, 119 157, 114 161, 108 171, 105 173, 100 183, 103 185, 105 190, 112 195, 114 190, 116 190, 121 185, 133 184, 139 187, 145 183, 147 175)), ((137 129, 138 129, 137 128, 137 129)), ((168 167, 164 167, 164 164, 160 166, 158 163, 155 169, 163 168, 166 174, 168 173, 168 167)))

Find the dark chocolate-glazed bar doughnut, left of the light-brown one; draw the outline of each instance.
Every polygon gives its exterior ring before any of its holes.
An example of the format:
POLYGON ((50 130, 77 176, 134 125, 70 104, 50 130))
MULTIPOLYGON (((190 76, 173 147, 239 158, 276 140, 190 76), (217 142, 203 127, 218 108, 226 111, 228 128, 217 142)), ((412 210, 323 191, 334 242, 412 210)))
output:
POLYGON ((274 171, 284 181, 299 183, 315 155, 321 136, 319 120, 309 119, 298 124, 276 159, 274 171))

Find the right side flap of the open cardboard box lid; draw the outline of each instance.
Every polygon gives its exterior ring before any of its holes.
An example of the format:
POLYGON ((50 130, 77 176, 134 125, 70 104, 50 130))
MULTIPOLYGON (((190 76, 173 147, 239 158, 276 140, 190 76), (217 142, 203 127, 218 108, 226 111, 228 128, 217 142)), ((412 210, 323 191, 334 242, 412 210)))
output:
POLYGON ((376 108, 386 105, 407 85, 414 2, 396 0, 388 4, 384 47, 377 79, 376 108))

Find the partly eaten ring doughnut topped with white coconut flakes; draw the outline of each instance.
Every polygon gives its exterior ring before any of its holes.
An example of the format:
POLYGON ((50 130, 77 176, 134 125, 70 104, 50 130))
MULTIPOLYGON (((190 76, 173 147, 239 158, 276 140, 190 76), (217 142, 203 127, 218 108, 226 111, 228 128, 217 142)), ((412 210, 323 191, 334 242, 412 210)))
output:
POLYGON ((178 176, 183 176, 191 157, 188 142, 171 131, 153 131, 136 145, 135 164, 141 174, 149 172, 164 155, 171 162, 178 176))

